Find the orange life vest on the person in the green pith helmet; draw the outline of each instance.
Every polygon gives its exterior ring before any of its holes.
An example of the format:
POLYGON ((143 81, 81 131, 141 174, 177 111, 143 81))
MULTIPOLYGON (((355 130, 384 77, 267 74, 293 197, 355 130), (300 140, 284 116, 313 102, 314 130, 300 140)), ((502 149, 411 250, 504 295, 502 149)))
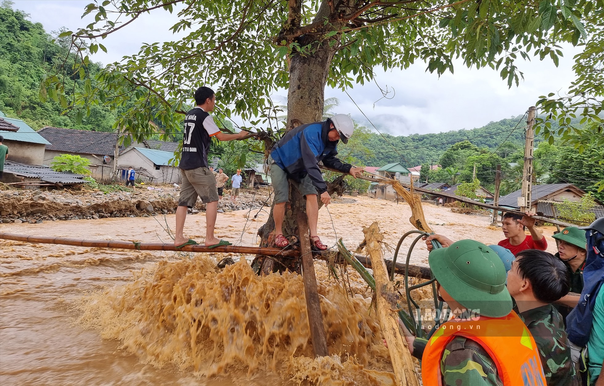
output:
POLYGON ((422 356, 422 379, 426 386, 442 386, 440 360, 446 345, 457 336, 476 341, 495 362, 504 386, 546 386, 539 351, 533 336, 512 311, 501 318, 480 316, 476 320, 443 323, 422 356))

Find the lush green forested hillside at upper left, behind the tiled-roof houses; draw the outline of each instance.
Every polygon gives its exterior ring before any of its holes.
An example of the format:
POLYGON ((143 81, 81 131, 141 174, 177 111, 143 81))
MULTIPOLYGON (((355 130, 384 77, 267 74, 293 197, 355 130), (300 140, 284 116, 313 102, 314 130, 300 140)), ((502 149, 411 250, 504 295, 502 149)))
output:
MULTIPOLYGON (((35 129, 48 125, 111 131, 118 112, 108 107, 90 106, 90 115, 84 114, 81 119, 76 114, 62 115, 63 107, 72 102, 69 96, 74 90, 82 89, 87 79, 94 84, 100 63, 89 63, 83 78, 76 73, 65 79, 65 100, 48 95, 46 103, 40 101, 40 81, 47 72, 52 74, 54 65, 65 60, 67 46, 60 40, 54 42, 42 24, 26 18, 27 14, 13 10, 10 2, 0 5, 0 110, 35 129)), ((72 68, 74 60, 69 57, 65 66, 72 68)))

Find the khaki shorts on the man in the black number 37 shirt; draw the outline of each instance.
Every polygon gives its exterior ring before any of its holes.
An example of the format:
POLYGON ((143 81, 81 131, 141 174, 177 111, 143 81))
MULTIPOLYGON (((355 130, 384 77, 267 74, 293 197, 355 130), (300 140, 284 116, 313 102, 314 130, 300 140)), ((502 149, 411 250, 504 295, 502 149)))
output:
POLYGON ((202 203, 207 204, 218 201, 216 179, 210 169, 206 167, 184 170, 181 169, 181 195, 178 198, 178 206, 193 207, 197 197, 202 203))

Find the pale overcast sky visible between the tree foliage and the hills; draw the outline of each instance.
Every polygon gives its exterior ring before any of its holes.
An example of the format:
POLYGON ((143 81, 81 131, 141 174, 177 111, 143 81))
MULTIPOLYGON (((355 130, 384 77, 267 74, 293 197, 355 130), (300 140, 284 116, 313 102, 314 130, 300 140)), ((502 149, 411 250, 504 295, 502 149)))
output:
MULTIPOLYGON (((62 27, 75 31, 91 22, 91 15, 81 19, 89 0, 13 0, 14 8, 30 14, 33 22, 43 24, 48 32, 62 27)), ((176 12, 175 12, 176 13, 176 12)), ((91 57, 95 62, 111 63, 124 55, 138 52, 141 43, 174 40, 169 28, 176 16, 161 9, 144 14, 137 21, 103 40, 108 49, 91 57)), ((425 72, 426 64, 416 63, 406 70, 377 70, 376 81, 382 87, 394 89, 392 99, 381 99, 376 84, 356 86, 350 96, 380 130, 391 134, 437 133, 460 128, 481 127, 490 121, 499 121, 521 115, 533 106, 540 95, 567 89, 573 80, 572 57, 578 52, 565 49, 558 68, 551 60, 521 62, 524 81, 518 87, 507 88, 498 72, 490 68, 467 69, 455 63, 455 74, 440 78, 425 72)), ((326 90, 326 98, 335 96, 341 101, 336 113, 350 113, 353 118, 365 121, 349 96, 339 90, 326 90)), ((371 126, 369 125, 371 128, 371 126)))

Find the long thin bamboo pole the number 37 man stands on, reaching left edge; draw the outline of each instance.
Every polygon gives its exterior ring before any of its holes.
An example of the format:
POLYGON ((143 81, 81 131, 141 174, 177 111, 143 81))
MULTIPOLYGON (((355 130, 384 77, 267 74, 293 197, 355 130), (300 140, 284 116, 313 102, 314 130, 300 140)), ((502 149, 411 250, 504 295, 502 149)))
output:
POLYGON ((219 253, 243 253, 246 255, 266 256, 289 256, 295 258, 300 256, 297 250, 282 250, 280 248, 242 247, 239 245, 225 245, 216 248, 208 248, 203 245, 187 245, 176 248, 174 244, 162 244, 161 242, 135 242, 135 241, 113 241, 113 240, 80 240, 66 237, 27 236, 15 233, 0 233, 0 239, 34 242, 41 244, 63 244, 75 245, 77 247, 96 248, 118 248, 137 249, 142 251, 182 251, 182 252, 219 252, 219 253))

